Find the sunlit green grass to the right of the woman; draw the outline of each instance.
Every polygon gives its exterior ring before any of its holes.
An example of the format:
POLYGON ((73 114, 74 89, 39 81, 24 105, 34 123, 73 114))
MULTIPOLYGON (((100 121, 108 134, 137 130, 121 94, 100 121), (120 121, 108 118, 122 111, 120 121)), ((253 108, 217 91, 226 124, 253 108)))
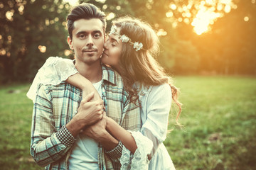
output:
POLYGON ((164 142, 176 169, 255 169, 256 79, 178 77, 176 85, 184 128, 164 142))

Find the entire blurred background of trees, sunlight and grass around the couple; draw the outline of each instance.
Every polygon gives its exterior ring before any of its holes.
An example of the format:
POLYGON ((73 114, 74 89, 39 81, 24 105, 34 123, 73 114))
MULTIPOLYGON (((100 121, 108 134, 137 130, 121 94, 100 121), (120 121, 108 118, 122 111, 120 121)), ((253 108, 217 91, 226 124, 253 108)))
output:
POLYGON ((1 0, 0 169, 40 169, 29 155, 32 101, 26 92, 50 56, 73 59, 66 16, 95 4, 111 21, 151 24, 158 61, 181 89, 164 144, 176 169, 256 167, 256 0, 1 0))

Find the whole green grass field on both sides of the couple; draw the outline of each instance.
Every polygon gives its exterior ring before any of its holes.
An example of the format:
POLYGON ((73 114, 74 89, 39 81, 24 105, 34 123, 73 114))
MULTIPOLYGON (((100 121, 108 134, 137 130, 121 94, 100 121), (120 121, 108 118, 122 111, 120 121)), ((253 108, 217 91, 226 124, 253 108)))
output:
MULTIPOLYGON (((0 169, 42 169, 29 154, 29 84, 0 87, 0 169)), ((177 77, 183 112, 164 144, 177 170, 256 169, 256 78, 177 77)))

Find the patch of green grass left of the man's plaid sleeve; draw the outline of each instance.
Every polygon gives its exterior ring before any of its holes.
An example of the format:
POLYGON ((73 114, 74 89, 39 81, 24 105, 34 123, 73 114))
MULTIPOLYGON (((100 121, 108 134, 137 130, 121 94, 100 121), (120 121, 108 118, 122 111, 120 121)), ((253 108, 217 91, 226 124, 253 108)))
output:
POLYGON ((29 154, 33 102, 29 85, 0 87, 0 169, 40 169, 29 154))

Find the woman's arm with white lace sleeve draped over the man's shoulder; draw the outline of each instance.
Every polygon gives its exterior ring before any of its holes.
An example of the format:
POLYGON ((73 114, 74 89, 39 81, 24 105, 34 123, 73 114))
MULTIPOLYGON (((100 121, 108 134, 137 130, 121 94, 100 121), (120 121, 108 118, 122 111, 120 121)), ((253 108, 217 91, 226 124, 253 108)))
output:
POLYGON ((92 101, 100 98, 94 86, 85 77, 82 77, 75 69, 73 60, 64 59, 61 57, 49 57, 46 63, 38 70, 35 79, 27 93, 28 98, 35 103, 36 93, 39 84, 57 85, 62 81, 67 81, 69 84, 76 86, 82 90, 82 98, 95 91, 95 96, 92 101))

